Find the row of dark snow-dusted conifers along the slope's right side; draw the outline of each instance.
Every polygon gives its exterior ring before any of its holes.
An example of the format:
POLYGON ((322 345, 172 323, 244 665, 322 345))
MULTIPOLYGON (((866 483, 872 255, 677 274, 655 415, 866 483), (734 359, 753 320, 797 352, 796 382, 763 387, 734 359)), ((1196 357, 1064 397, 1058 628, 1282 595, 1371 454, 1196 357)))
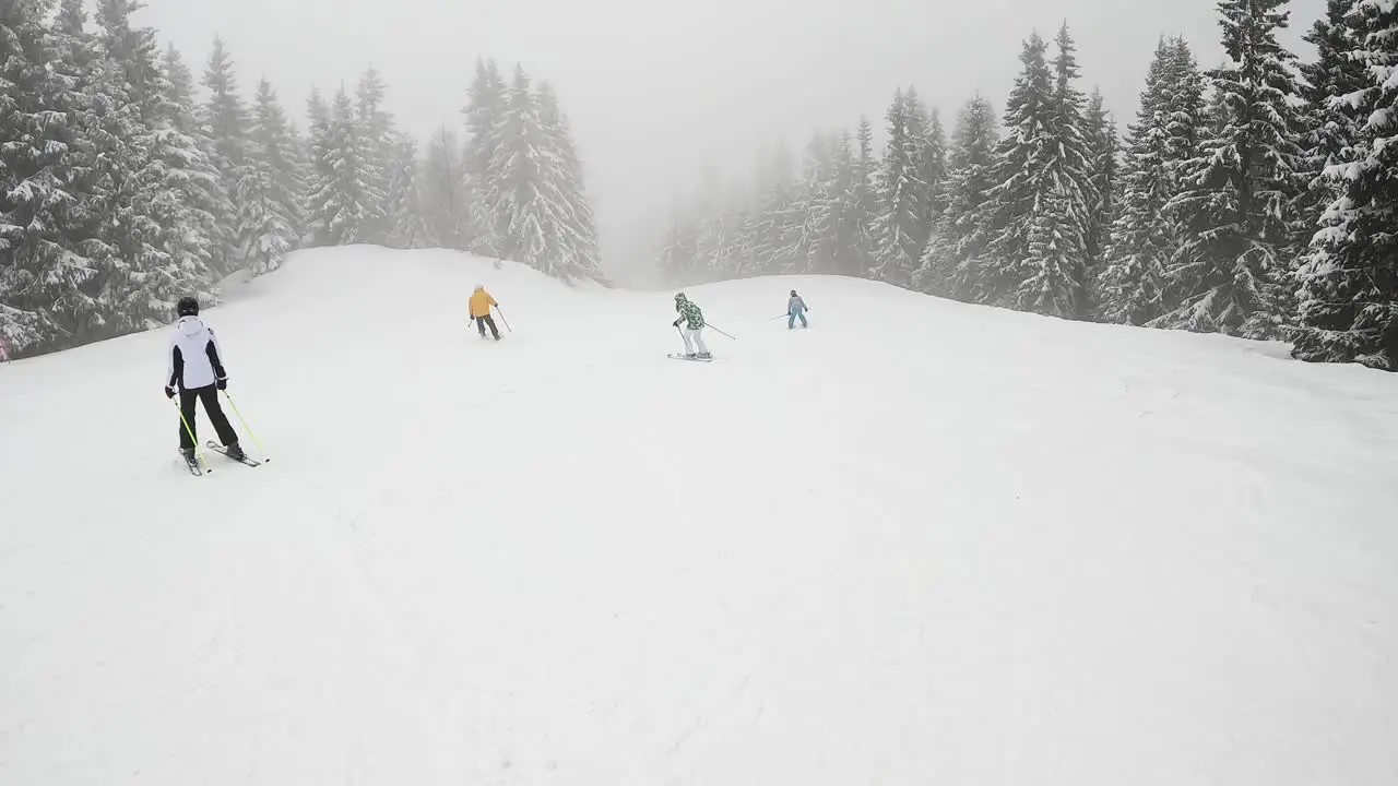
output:
POLYGON ((1226 64, 1162 39, 1124 138, 1072 36, 1023 43, 997 122, 948 138, 913 88, 872 127, 784 148, 751 192, 710 180, 661 249, 675 284, 829 273, 1064 319, 1293 341, 1398 371, 1398 6, 1329 0, 1299 63, 1285 0, 1219 3, 1226 64))

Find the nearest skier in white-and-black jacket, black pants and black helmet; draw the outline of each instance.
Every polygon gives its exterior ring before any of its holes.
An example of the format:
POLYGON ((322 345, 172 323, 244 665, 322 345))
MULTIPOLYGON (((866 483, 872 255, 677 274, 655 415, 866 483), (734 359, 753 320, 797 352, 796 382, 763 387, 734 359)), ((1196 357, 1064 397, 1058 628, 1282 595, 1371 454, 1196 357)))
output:
POLYGON ((165 351, 165 397, 173 399, 175 392, 179 392, 179 408, 185 415, 179 424, 179 450, 186 462, 194 463, 194 403, 203 401, 204 414, 214 424, 228 457, 242 462, 246 456, 238 445, 238 432, 218 406, 218 392, 228 390, 228 372, 224 369, 218 337, 199 317, 197 299, 180 298, 175 308, 179 322, 175 323, 165 351))

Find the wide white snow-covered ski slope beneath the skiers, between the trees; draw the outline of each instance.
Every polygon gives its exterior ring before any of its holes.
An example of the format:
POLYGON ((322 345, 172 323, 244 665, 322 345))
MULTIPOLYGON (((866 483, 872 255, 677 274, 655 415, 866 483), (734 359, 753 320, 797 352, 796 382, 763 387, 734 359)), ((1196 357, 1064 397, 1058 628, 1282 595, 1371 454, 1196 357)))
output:
POLYGON ((691 296, 296 255, 206 477, 165 331, 0 366, 0 783, 1398 783, 1398 376, 691 296))

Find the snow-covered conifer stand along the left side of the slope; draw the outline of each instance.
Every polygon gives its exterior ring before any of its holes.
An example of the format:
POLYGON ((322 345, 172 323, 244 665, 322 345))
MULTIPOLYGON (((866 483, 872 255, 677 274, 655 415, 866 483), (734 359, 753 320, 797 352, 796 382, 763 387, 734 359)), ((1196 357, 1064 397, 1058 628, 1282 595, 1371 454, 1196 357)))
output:
POLYGON ((601 280, 558 97, 478 62, 467 140, 419 157, 370 70, 315 92, 301 133, 267 80, 250 101, 215 41, 194 76, 136 0, 0 3, 0 345, 32 355, 166 323, 187 294, 295 249, 452 248, 601 280))

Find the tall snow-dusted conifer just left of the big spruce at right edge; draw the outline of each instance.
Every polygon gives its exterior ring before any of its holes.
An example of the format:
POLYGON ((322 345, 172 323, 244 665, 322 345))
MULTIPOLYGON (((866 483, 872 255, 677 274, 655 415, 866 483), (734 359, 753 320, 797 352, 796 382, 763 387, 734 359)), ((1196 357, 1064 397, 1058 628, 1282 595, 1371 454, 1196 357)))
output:
POLYGON ((1282 6, 1219 3, 1230 59, 1208 74, 1219 130, 1186 164, 1187 187, 1170 201, 1184 242, 1166 271, 1169 310, 1152 326, 1269 338, 1290 310, 1304 129, 1295 55, 1276 41, 1288 24, 1282 6))

